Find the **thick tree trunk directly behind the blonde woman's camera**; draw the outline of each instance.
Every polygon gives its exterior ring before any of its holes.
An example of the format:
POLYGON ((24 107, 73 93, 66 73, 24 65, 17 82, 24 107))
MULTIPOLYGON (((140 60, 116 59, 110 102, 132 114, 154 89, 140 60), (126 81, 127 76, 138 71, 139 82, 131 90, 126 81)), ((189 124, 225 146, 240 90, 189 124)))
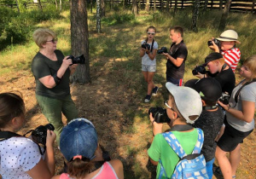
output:
POLYGON ((79 64, 72 80, 79 84, 87 84, 90 83, 90 63, 86 0, 70 1, 70 22, 72 54, 84 54, 85 58, 85 64, 79 64))

